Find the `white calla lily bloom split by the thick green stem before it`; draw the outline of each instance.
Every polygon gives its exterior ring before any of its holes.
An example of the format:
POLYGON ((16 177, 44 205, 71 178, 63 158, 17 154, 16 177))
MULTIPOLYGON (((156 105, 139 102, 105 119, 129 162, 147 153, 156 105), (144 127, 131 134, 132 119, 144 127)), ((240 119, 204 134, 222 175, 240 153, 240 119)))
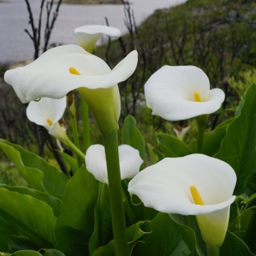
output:
MULTIPOLYGON (((118 147, 121 179, 133 178, 140 171, 143 160, 137 149, 130 145, 118 147)), ((85 155, 85 163, 89 173, 100 182, 108 184, 107 162, 105 148, 102 145, 92 145, 85 155)))

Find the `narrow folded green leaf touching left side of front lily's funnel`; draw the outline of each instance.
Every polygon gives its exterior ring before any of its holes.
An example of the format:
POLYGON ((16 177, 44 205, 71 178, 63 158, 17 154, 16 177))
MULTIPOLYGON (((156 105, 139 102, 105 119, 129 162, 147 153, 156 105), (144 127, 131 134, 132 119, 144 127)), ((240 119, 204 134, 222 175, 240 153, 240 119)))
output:
POLYGON ((206 245, 201 238, 196 216, 181 216, 178 214, 170 214, 169 216, 192 255, 206 255, 206 245))

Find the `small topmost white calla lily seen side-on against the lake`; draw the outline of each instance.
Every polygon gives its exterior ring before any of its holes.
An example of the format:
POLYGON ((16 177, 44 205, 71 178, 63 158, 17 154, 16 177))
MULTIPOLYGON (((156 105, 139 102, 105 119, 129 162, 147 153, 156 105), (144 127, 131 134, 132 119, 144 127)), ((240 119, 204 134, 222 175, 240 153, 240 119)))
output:
POLYGON ((79 26, 74 30, 73 36, 78 42, 78 45, 84 50, 92 52, 97 40, 103 35, 117 39, 121 36, 121 31, 112 26, 88 25, 79 26))

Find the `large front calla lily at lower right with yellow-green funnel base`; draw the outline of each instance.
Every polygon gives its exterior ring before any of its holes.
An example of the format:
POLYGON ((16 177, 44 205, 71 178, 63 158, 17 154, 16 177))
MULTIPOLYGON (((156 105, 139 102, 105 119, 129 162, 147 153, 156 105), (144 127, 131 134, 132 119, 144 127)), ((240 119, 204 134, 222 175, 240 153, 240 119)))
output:
POLYGON ((229 222, 236 175, 225 162, 203 154, 167 158, 132 178, 128 191, 145 206, 195 215, 206 244, 220 247, 229 222))

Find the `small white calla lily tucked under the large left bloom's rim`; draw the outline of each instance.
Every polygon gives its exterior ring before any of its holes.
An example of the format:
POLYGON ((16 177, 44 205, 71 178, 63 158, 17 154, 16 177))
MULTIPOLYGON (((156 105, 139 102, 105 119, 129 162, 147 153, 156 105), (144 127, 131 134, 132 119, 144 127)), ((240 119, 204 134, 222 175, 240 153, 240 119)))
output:
POLYGON ((59 119, 64 115, 66 104, 66 97, 60 99, 42 97, 39 101, 28 104, 26 116, 29 121, 44 126, 50 135, 61 140, 65 135, 64 130, 59 126, 59 119))

